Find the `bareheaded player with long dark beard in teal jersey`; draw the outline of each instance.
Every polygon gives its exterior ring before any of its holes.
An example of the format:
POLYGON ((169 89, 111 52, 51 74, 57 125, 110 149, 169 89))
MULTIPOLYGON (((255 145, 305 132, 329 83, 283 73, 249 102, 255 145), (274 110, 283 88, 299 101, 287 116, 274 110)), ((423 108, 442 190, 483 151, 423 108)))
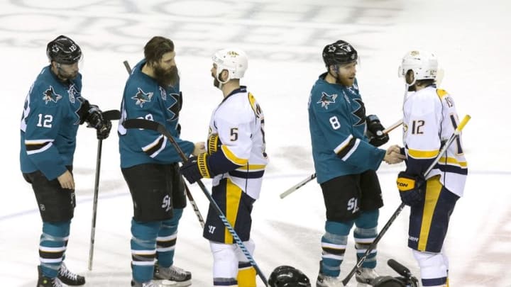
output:
MULTIPOLYGON (((165 125, 187 156, 205 152, 204 142, 180 139, 182 94, 174 43, 155 36, 145 45, 144 56, 126 81, 120 123, 128 118, 155 120, 165 125)), ((127 130, 120 124, 118 131, 121 171, 133 199, 132 286, 153 286, 153 278, 189 286, 192 274, 174 265, 177 225, 186 206, 181 157, 153 130, 127 130)))

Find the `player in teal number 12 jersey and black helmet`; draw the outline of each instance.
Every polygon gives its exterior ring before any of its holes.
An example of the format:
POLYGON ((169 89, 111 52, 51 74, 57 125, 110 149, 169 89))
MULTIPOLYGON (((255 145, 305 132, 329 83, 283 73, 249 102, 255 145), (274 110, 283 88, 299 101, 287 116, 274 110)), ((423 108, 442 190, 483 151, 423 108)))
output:
POLYGON ((102 140, 109 136, 111 123, 103 119, 98 106, 82 97, 80 47, 60 35, 48 43, 46 53, 50 65, 35 79, 23 108, 21 171, 32 185, 43 219, 37 286, 78 286, 85 283, 84 277, 73 274, 63 262, 75 210, 72 166, 77 130, 87 123, 102 140))

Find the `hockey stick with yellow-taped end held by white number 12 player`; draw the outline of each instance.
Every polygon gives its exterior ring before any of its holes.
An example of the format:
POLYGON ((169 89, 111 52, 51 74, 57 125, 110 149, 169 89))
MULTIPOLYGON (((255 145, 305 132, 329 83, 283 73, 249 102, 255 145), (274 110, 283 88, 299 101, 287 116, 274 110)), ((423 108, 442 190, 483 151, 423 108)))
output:
MULTIPOLYGON (((454 142, 454 140, 456 140, 456 137, 458 137, 458 135, 461 133, 461 130, 463 130, 466 123, 468 123, 468 120, 470 120, 470 119, 471 119, 471 116, 466 115, 465 118, 463 118, 463 120, 461 120, 461 123, 458 125, 456 130, 454 130, 454 133, 451 135, 451 137, 449 137, 449 140, 447 140, 447 142, 444 144, 444 147, 441 148, 441 150, 439 151, 439 154, 436 156, 436 158, 434 159, 432 164, 430 164, 428 169, 426 169, 426 171, 424 171, 424 178, 426 178, 426 176, 429 174, 429 172, 432 171, 434 166, 439 162, 440 157, 442 155, 444 155, 444 153, 446 152, 449 145, 451 145, 451 143, 454 142)), ((343 279, 342 283, 344 286, 346 286, 348 281, 350 281, 351 277, 353 277, 353 275, 356 272, 360 272, 360 271, 358 271, 358 269, 362 266, 363 261, 366 261, 366 258, 368 257, 369 253, 371 251, 373 251, 373 249, 376 247, 376 244, 378 244, 378 242, 380 242, 380 240, 383 237, 383 235, 385 234, 385 232, 387 232, 390 225, 392 225, 394 220, 397 218, 397 215, 399 215, 401 213, 401 210, 403 208, 405 208, 405 203, 401 203, 400 206, 398 206, 397 209, 394 211, 394 213, 392 213, 392 215, 390 216, 390 219, 387 221, 387 223, 385 223, 385 226, 383 226, 382 230, 380 230, 380 233, 378 233, 378 235, 375 237, 375 240, 373 240, 373 243, 371 243, 369 245, 368 249, 366 250, 366 253, 364 253, 363 256, 360 259, 358 259, 357 264, 353 267, 353 269, 351 269, 348 276, 346 276, 346 278, 343 279)))

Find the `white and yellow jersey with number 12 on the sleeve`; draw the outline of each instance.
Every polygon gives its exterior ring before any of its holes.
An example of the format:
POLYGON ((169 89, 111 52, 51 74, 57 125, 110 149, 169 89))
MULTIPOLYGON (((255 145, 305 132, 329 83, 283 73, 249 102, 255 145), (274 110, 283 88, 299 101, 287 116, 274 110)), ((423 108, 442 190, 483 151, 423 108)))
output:
MULTIPOLYGON (((429 86, 407 94, 403 113, 407 172, 423 174, 459 125, 456 107, 446 91, 429 86)), ((452 142, 427 179, 440 175, 443 186, 457 196, 463 196, 467 173, 460 135, 452 142)))

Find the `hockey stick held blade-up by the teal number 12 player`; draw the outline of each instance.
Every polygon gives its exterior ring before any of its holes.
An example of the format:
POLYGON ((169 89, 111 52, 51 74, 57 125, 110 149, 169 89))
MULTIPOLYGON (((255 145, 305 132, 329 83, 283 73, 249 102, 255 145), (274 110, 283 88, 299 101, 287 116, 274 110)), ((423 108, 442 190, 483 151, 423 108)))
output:
MULTIPOLYGON (((103 112, 104 120, 119 120, 121 112, 110 110, 103 112)), ((96 177, 94 179, 94 200, 92 201, 92 227, 91 242, 89 246, 89 270, 92 270, 92 257, 94 257, 94 237, 96 235, 96 215, 97 215, 97 198, 99 193, 99 170, 101 169, 101 149, 103 148, 103 140, 98 140, 97 157, 96 157, 96 177)))

